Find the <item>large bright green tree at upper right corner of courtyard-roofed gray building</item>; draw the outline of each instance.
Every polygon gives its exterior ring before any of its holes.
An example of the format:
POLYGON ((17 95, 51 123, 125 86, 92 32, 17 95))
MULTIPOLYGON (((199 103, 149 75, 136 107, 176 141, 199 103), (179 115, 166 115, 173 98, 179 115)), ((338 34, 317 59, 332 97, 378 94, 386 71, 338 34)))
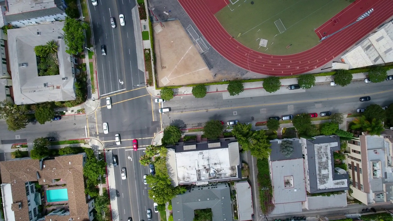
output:
POLYGON ((84 30, 88 28, 88 24, 66 17, 64 22, 64 42, 67 45, 66 53, 73 55, 83 52, 84 30))

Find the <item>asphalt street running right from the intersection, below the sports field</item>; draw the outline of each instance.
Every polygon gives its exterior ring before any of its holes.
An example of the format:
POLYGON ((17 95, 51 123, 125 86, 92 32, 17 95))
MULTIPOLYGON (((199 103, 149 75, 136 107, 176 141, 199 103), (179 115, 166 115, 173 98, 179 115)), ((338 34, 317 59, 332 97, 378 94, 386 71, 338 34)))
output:
POLYGON ((239 120, 239 122, 261 122, 271 116, 299 114, 303 112, 354 113, 357 108, 370 104, 388 106, 393 103, 393 81, 382 83, 353 82, 346 87, 316 85, 304 93, 271 95, 253 98, 222 99, 222 94, 208 94, 205 98, 178 97, 167 101, 169 114, 162 114, 164 125, 201 127, 211 119, 239 120), (362 96, 370 101, 360 102, 362 96))

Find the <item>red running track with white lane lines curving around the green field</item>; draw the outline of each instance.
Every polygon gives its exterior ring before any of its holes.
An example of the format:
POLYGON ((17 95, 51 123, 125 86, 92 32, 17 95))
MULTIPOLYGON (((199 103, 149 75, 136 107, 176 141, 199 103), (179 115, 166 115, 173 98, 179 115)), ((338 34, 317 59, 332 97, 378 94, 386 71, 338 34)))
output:
MULTIPOLYGON (((202 35, 220 55, 241 68, 272 76, 301 74, 328 63, 393 15, 392 0, 374 0, 373 2, 357 0, 355 3, 369 2, 367 7, 374 8, 373 13, 369 17, 332 35, 307 51, 292 55, 268 55, 247 48, 236 41, 221 26, 205 1, 178 1, 202 35)), ((218 1, 224 2, 224 0, 218 1)), ((209 2, 217 2, 217 0, 209 2)), ((224 4, 220 3, 220 5, 224 4)), ((367 10, 365 9, 364 12, 367 10)), ((348 11, 353 13, 351 10, 348 11)), ((354 11, 353 18, 345 21, 346 24, 351 24, 363 13, 358 14, 359 9, 354 11)), ((340 22, 342 22, 340 26, 345 26, 342 20, 340 22)))

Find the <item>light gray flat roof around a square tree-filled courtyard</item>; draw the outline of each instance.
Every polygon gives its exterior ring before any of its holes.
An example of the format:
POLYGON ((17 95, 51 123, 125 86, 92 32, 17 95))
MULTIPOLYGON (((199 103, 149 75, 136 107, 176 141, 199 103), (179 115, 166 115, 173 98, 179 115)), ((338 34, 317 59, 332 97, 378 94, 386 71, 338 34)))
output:
POLYGON ((8 31, 8 50, 15 104, 75 99, 73 63, 65 52, 64 22, 26 26, 8 31), (38 33, 38 34, 37 34, 38 33), (59 38, 60 37, 60 38, 59 38), (59 75, 38 76, 34 47, 57 42, 59 75), (45 85, 44 85, 45 84, 45 85))

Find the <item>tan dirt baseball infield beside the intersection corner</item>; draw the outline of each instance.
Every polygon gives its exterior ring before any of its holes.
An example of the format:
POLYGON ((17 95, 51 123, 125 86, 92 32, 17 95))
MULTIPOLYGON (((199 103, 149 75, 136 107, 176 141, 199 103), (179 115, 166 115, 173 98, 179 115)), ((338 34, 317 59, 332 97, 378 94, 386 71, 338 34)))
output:
POLYGON ((213 79, 212 73, 180 22, 168 21, 163 22, 163 25, 165 27, 160 28, 160 24, 153 24, 158 86, 217 81, 217 78, 213 79))

